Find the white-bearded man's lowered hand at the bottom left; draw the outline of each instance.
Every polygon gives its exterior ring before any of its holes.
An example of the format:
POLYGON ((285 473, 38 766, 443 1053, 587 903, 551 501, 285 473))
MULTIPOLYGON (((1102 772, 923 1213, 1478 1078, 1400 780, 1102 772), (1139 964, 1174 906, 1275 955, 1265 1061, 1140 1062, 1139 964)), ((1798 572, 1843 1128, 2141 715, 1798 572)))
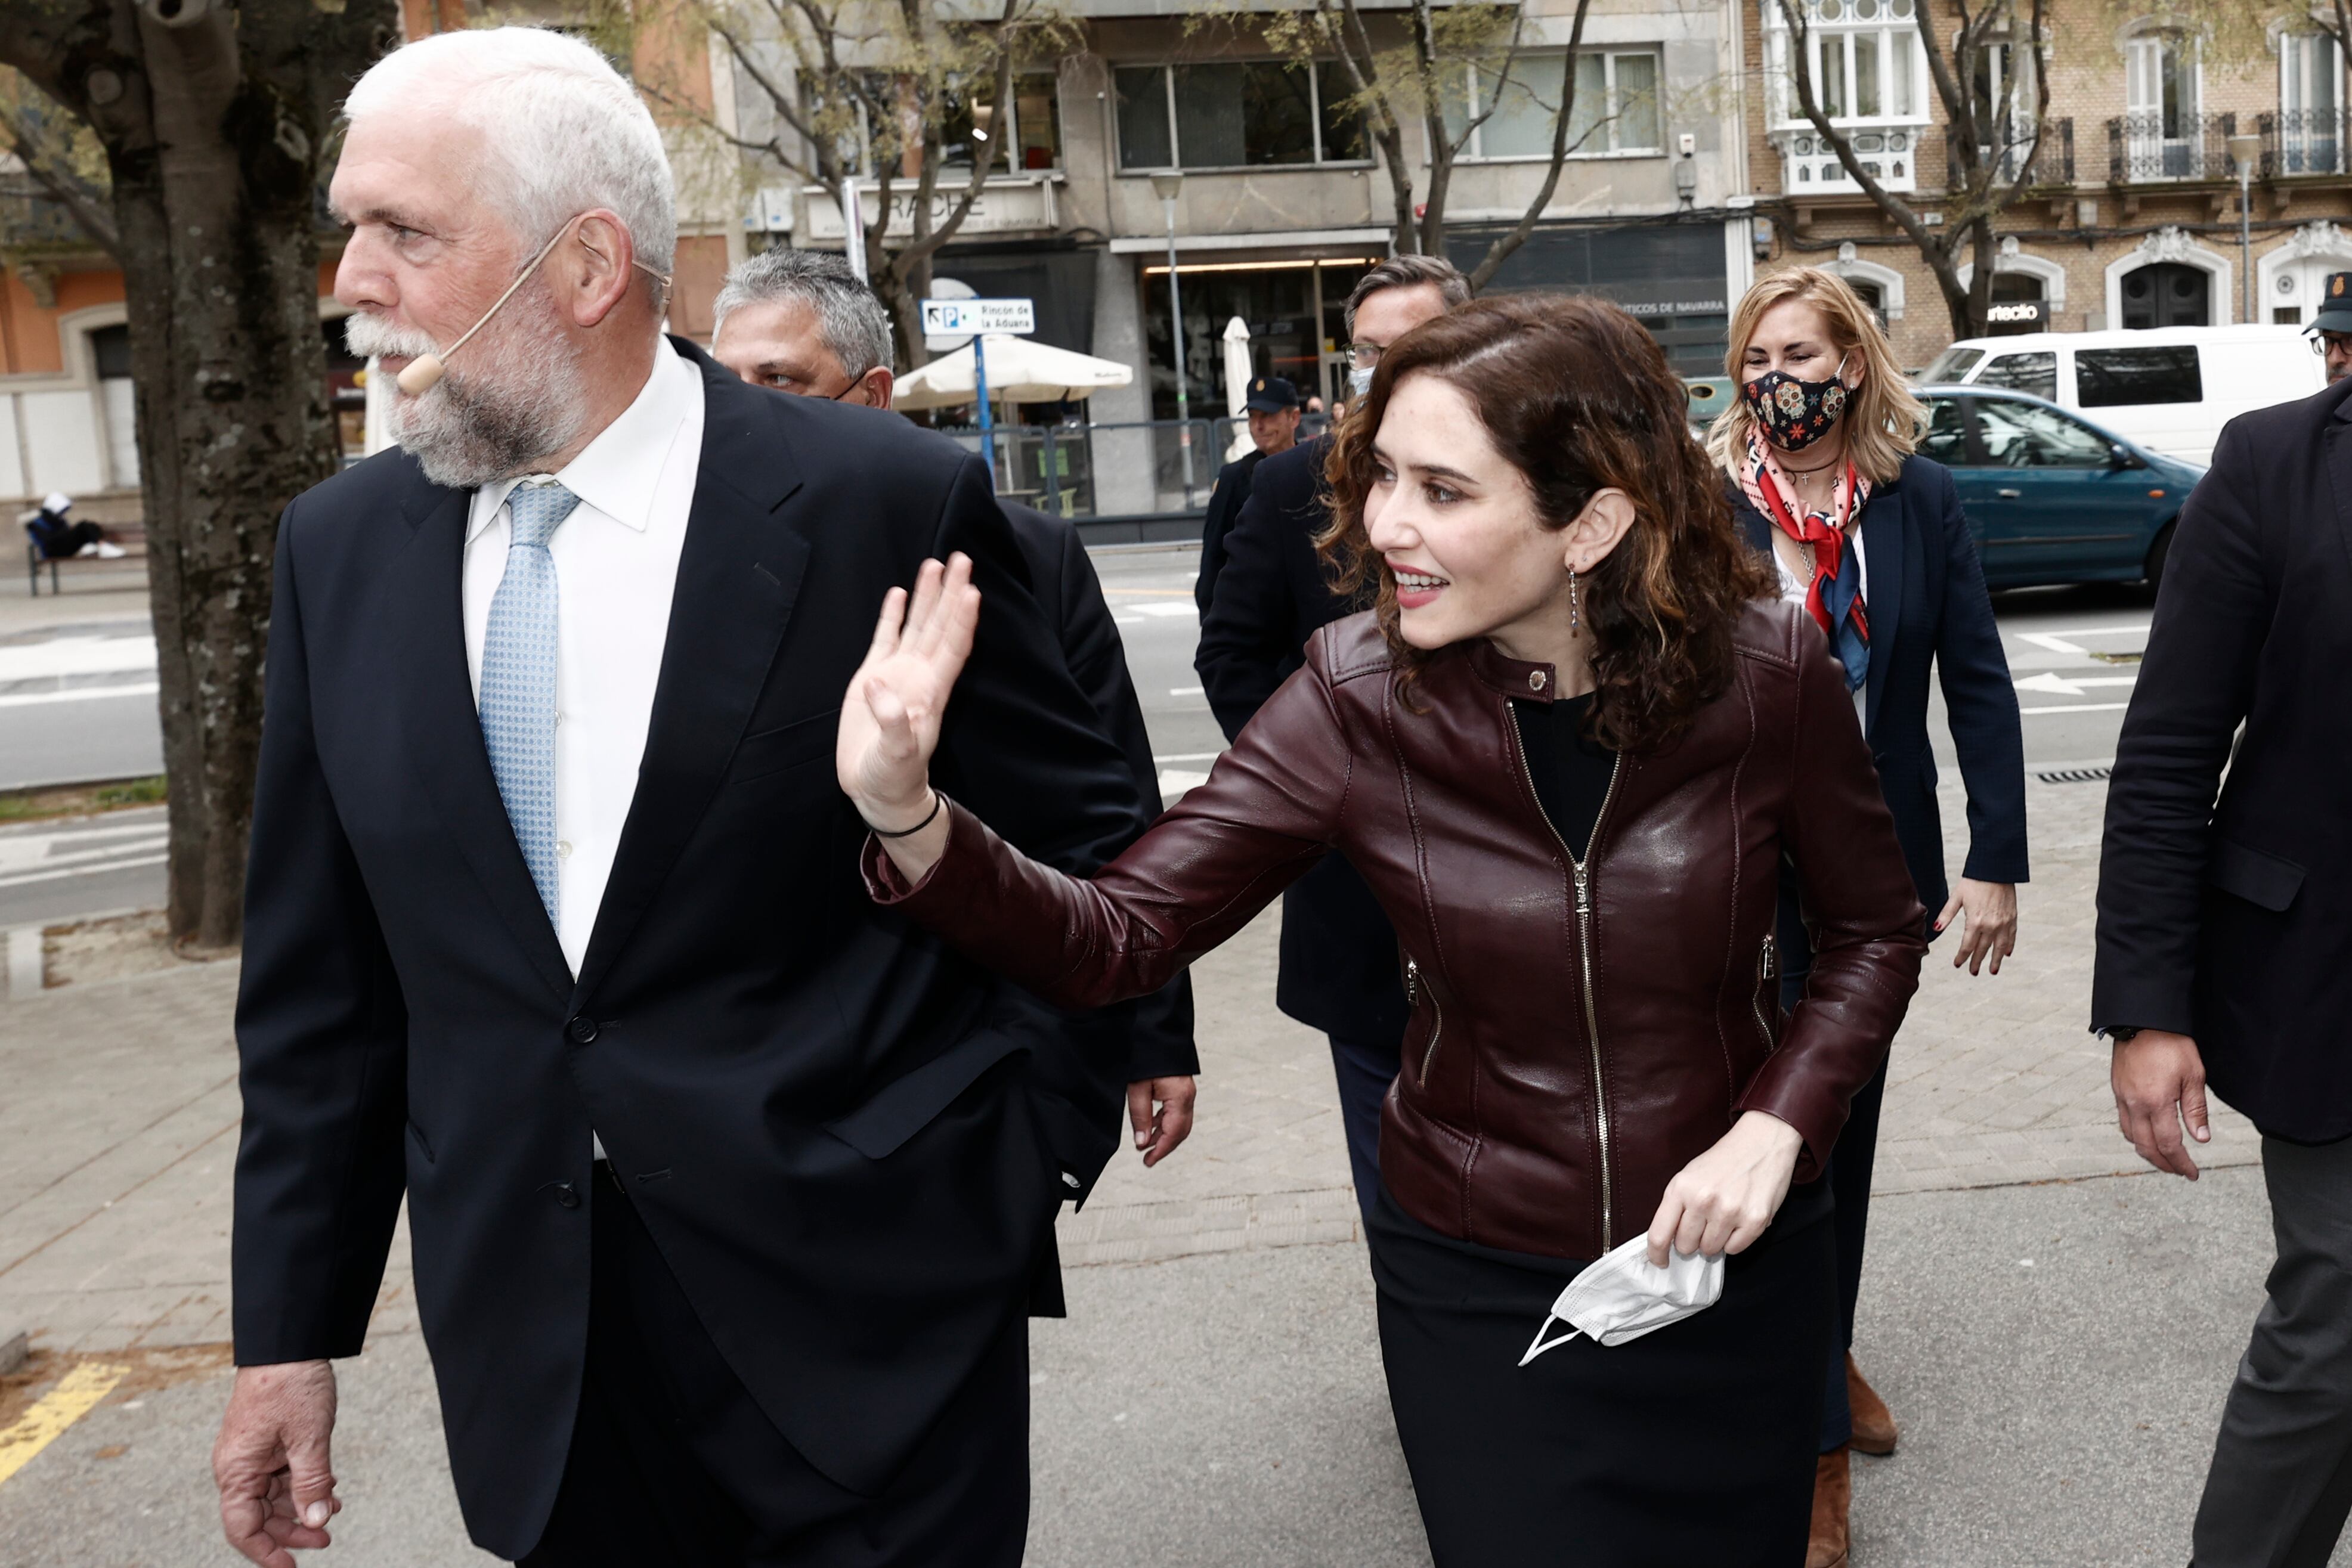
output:
POLYGON ((327 1462, 332 1432, 334 1366, 238 1368, 212 1446, 212 1479, 228 1544, 261 1568, 294 1568, 294 1552, 329 1544, 327 1521, 343 1509, 327 1462))

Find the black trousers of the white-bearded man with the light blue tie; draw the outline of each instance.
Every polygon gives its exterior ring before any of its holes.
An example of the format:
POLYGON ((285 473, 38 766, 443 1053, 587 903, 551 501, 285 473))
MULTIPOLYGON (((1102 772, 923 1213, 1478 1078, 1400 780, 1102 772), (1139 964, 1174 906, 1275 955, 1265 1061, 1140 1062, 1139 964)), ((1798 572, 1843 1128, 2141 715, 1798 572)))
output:
POLYGON ((880 1495, 818 1474, 703 1331, 607 1166, 562 1488, 522 1568, 1018 1568, 1028 1321, 1011 1316, 880 1495))

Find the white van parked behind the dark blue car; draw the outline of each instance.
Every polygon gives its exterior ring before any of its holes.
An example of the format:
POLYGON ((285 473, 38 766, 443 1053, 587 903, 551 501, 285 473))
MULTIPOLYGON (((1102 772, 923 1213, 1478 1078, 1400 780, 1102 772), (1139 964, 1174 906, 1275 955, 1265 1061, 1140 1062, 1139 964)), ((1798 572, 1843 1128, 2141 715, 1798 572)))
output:
POLYGON ((2164 456, 2211 463, 2225 423, 2310 397, 2328 376, 2300 327, 2150 327, 1964 339, 1919 383, 2032 393, 2164 456))

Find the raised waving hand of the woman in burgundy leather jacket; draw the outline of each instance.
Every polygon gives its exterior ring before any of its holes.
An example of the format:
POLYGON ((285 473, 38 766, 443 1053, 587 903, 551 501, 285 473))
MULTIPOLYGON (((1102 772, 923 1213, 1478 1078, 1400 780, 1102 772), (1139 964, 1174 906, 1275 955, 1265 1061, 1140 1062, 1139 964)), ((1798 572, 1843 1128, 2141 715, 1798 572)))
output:
MULTIPOLYGON (((842 792, 877 832, 903 832, 931 816, 931 752, 978 623, 981 590, 962 552, 946 567, 924 562, 913 602, 903 588, 882 599, 873 646, 842 693, 833 748, 842 792)), ((946 846, 946 823, 884 844, 903 872, 920 877, 946 846)))

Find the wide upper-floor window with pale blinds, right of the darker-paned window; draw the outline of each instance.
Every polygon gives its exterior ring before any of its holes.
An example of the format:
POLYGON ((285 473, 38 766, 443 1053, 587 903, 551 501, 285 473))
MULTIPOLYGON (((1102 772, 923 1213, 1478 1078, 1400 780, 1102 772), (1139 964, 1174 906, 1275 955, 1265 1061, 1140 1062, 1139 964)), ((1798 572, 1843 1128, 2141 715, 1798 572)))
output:
MULTIPOLYGON (((1446 103, 1446 134, 1461 141, 1470 120, 1486 120, 1470 132, 1463 158, 1550 158, 1566 61, 1566 52, 1522 54, 1508 78, 1491 66, 1465 66, 1461 94, 1446 103)), ((1576 56, 1569 158, 1661 153, 1665 141, 1658 125, 1656 49, 1592 49, 1576 56)))

